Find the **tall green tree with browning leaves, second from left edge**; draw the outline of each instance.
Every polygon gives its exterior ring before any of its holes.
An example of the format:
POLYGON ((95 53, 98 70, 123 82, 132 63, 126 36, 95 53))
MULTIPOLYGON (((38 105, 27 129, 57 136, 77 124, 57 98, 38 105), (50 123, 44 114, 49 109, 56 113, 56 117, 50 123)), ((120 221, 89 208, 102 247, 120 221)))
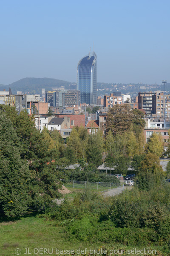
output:
MULTIPOLYGON (((11 115, 9 118, 13 122, 11 115)), ((41 209, 60 196, 58 188, 61 187, 60 179, 64 172, 61 168, 56 169, 60 162, 59 151, 48 131, 40 133, 26 111, 21 111, 17 116, 14 129, 21 143, 20 156, 28 163, 31 176, 28 184, 31 207, 41 209)))

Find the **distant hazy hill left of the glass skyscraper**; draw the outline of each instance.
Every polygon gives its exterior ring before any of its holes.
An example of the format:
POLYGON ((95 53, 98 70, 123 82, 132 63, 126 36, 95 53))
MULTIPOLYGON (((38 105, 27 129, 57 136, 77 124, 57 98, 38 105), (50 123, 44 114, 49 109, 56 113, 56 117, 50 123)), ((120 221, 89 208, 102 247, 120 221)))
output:
MULTIPOLYGON (((23 78, 12 84, 11 91, 13 94, 17 94, 17 91, 22 91, 22 93, 41 93, 41 89, 52 90, 52 88, 63 86, 65 89, 76 89, 74 85, 76 83, 71 83, 68 81, 52 79, 52 78, 23 78)), ((9 85, 0 84, 0 91, 3 89, 9 90, 9 85)))

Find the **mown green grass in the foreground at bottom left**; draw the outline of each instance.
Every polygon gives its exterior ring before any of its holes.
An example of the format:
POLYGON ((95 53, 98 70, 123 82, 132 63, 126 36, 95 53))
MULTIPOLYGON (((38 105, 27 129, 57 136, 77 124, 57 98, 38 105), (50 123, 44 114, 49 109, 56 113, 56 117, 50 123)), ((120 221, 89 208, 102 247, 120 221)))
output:
MULTIPOLYGON (((21 249, 21 256, 28 255, 24 254, 26 253, 25 248, 29 248, 29 252, 32 253, 30 254, 31 256, 60 255, 56 254, 55 248, 58 250, 70 249, 74 251, 79 248, 85 249, 86 247, 88 250, 89 248, 99 249, 101 246, 112 249, 133 249, 132 247, 126 247, 122 244, 102 244, 101 242, 90 244, 89 242, 81 242, 78 240, 69 241, 63 228, 57 224, 56 221, 47 221, 44 218, 38 218, 37 215, 31 214, 30 216, 20 218, 20 220, 17 221, 0 223, 0 230, 0 256, 14 256, 16 255, 16 248, 21 249), (36 254, 34 254, 34 248, 50 248, 50 252, 53 248, 53 253, 37 253, 36 251, 36 254)), ((153 249, 157 250, 157 248, 153 249)), ((91 256, 93 255, 91 254, 91 256)))

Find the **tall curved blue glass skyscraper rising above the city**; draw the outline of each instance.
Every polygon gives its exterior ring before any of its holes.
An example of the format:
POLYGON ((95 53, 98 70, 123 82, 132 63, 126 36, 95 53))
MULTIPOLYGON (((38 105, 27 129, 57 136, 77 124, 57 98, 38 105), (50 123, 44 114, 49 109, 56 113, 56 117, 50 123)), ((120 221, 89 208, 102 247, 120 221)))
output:
POLYGON ((89 53, 77 65, 77 90, 80 91, 80 103, 97 102, 97 62, 96 53, 89 53))

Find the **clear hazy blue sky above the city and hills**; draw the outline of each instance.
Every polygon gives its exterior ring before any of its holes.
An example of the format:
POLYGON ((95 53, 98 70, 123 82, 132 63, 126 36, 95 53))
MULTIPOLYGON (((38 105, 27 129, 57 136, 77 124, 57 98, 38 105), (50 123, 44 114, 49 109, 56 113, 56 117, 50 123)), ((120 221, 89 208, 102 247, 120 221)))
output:
POLYGON ((0 0, 0 84, 76 81, 97 54, 97 81, 170 82, 169 0, 0 0))

